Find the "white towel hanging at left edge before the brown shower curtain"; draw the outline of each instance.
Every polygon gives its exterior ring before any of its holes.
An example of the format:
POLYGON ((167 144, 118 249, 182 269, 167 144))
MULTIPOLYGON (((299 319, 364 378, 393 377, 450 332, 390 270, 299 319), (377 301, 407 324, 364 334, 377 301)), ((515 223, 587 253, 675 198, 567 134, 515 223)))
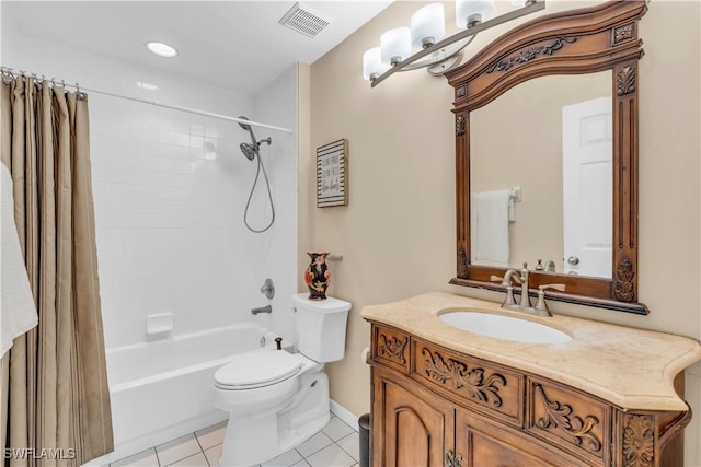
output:
POLYGON ((12 176, 0 163, 0 357, 38 323, 14 223, 12 176))

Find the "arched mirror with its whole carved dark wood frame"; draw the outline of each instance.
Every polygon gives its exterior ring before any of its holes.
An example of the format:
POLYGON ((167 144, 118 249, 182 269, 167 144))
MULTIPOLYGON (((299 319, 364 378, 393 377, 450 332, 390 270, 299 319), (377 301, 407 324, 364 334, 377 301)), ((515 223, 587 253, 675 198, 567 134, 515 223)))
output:
POLYGON ((531 294, 561 283, 565 291, 549 291, 550 300, 648 313, 637 302, 637 21, 645 11, 644 1, 613 1, 541 16, 446 73, 456 115, 457 277, 450 283, 503 290, 492 277, 527 261, 531 294), (590 105, 596 109, 587 114, 590 105), (587 139, 581 148, 610 145, 598 151, 610 161, 576 163, 572 176, 563 138, 587 139), (509 199, 519 196, 515 222, 504 229, 509 199), (567 238, 598 249, 599 266, 571 253, 567 238), (542 270, 535 269, 538 259, 542 270), (550 259, 554 270, 547 270, 550 259))

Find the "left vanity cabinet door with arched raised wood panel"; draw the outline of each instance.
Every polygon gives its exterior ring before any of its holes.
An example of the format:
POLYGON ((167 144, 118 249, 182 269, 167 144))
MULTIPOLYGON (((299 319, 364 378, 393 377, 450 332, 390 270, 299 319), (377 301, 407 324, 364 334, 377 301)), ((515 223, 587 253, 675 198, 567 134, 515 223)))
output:
POLYGON ((372 464, 436 467, 453 446, 453 409, 416 384, 374 370, 372 464))

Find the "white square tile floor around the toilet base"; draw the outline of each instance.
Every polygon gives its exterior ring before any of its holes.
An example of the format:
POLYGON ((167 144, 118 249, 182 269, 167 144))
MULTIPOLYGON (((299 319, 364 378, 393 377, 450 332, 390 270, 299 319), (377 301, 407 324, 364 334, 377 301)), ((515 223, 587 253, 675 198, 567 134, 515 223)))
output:
MULTIPOLYGON (((110 464, 111 467, 218 467, 226 422, 110 464)), ((296 450, 262 464, 267 466, 357 467, 358 432, 331 415, 323 429, 296 450)))

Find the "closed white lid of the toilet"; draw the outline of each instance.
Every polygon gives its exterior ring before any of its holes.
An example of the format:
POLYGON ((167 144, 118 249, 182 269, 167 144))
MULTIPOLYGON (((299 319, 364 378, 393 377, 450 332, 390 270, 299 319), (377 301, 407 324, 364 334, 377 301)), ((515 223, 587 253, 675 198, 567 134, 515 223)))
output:
POLYGON ((227 389, 253 389, 296 375, 302 362, 284 350, 244 353, 217 370, 215 384, 227 389))

